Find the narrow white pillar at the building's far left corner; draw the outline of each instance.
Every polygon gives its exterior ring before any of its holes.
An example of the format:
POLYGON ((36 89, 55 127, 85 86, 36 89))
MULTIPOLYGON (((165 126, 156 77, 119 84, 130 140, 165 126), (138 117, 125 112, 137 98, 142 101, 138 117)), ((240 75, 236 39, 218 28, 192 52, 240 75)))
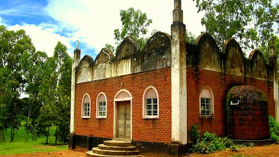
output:
POLYGON ((75 68, 80 63, 80 50, 77 48, 74 51, 74 59, 72 64, 72 79, 70 85, 70 133, 75 134, 75 68))

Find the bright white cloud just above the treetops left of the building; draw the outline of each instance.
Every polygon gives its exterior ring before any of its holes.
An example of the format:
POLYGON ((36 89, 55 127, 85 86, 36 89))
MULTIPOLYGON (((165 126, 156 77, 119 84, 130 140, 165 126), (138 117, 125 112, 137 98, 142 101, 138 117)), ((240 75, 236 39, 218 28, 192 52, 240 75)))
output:
POLYGON ((61 36, 56 32, 58 26, 54 24, 42 23, 36 26, 35 24, 16 24, 14 26, 9 26, 8 29, 17 31, 24 29, 27 35, 30 36, 32 43, 35 45, 37 51, 43 51, 47 53, 47 56, 52 57, 54 52, 54 47, 56 43, 60 41, 66 47, 68 47, 68 54, 73 57, 74 47, 70 45, 70 38, 61 36))

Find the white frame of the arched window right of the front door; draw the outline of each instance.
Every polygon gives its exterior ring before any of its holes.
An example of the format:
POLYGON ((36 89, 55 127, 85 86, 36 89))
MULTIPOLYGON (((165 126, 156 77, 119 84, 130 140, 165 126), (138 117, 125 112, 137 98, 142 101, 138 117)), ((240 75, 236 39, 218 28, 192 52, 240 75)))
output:
MULTIPOLYGON (((153 104, 153 98, 151 98, 151 103, 153 104)), ((159 95, 158 95, 158 91, 155 87, 153 86, 149 86, 149 87, 146 87, 146 89, 144 90, 144 94, 142 96, 142 118, 143 119, 159 119, 159 114, 160 114, 160 103, 159 103, 159 95), (156 96, 157 96, 157 115, 156 116, 153 116, 153 115, 146 115, 146 105, 147 105, 147 99, 150 99, 150 98, 146 98, 145 95, 146 95, 146 91, 148 91, 149 89, 153 89, 156 93, 156 96)), ((153 108, 153 105, 152 105, 152 108, 153 108)), ((153 114, 153 113, 152 113, 153 114)))

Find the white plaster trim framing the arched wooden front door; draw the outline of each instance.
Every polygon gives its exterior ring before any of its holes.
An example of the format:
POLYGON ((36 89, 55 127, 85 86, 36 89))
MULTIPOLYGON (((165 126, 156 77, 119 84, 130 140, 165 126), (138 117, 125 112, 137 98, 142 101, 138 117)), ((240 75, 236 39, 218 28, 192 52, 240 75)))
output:
POLYGON ((117 93, 114 96, 114 138, 116 137, 116 102, 117 101, 126 101, 126 100, 130 100, 130 140, 133 139, 133 96, 132 94, 130 94, 130 91, 126 90, 126 89, 120 89, 119 91, 117 91, 117 93), (118 94, 120 94, 122 91, 126 92, 130 98, 117 98, 118 94))

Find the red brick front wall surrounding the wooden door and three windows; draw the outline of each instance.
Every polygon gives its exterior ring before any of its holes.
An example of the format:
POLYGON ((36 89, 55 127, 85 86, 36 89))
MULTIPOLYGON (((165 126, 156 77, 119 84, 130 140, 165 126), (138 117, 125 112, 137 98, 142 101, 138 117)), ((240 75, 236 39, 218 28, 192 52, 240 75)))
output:
POLYGON ((76 85, 75 133, 94 137, 113 137, 114 96, 122 89, 133 96, 133 140, 172 142, 172 106, 170 67, 135 73, 76 85), (160 100, 160 119, 142 119, 142 96, 146 87, 156 87, 160 100), (96 119, 96 98, 100 92, 107 96, 107 119, 96 119), (82 119, 82 97, 91 98, 91 118, 82 119))

